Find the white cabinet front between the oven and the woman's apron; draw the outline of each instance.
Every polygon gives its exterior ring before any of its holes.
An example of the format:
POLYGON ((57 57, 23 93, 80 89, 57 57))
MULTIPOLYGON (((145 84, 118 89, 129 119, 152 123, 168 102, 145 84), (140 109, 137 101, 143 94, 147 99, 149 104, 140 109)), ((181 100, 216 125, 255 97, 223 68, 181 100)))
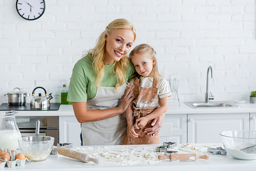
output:
POLYGON ((80 146, 81 126, 75 116, 59 116, 59 142, 80 146))

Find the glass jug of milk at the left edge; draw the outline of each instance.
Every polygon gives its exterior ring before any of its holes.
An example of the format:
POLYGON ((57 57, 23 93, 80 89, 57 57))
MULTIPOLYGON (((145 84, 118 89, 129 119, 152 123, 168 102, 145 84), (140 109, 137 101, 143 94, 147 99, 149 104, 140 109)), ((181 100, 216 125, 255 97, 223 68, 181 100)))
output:
POLYGON ((0 112, 0 147, 15 150, 22 135, 15 120, 16 111, 0 112))

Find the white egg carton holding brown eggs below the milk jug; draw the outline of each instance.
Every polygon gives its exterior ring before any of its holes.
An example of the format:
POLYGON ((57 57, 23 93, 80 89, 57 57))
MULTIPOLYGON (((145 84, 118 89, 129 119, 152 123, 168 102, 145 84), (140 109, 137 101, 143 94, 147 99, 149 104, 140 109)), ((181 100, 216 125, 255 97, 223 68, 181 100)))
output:
MULTIPOLYGON (((3 150, 3 148, 0 148, 1 151, 5 151, 7 152, 7 149, 3 150)), ((5 165, 7 167, 15 167, 17 166, 23 166, 26 162, 26 160, 28 160, 27 158, 23 159, 23 160, 19 160, 19 159, 15 159, 16 158, 16 153, 12 152, 9 150, 7 153, 9 153, 11 155, 11 160, 8 161, 7 159, 2 159, 2 156, 0 157, 0 169, 3 169, 5 167, 5 165)), ((28 160, 29 161, 29 160, 28 160)))

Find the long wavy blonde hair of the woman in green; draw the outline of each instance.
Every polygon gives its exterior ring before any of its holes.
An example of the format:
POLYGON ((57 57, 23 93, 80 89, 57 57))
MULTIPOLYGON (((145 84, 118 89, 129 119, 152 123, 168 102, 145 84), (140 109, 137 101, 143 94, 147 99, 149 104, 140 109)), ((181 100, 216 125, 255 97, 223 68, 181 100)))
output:
MULTIPOLYGON (((93 57, 93 66, 97 72, 96 78, 96 86, 100 87, 101 80, 104 76, 104 55, 106 53, 106 43, 105 38, 107 35, 111 35, 113 31, 117 29, 129 29, 134 34, 134 41, 136 39, 136 31, 134 25, 127 19, 115 19, 108 26, 106 26, 105 31, 103 31, 97 39, 97 44, 93 49, 90 49, 86 55, 92 54, 93 57)), ((129 58, 127 56, 122 57, 119 61, 115 61, 114 63, 114 72, 117 75, 117 84, 115 86, 115 90, 117 91, 117 87, 123 83, 124 75, 126 75, 126 70, 128 68, 129 58)), ((117 91, 118 92, 118 91, 117 91)))

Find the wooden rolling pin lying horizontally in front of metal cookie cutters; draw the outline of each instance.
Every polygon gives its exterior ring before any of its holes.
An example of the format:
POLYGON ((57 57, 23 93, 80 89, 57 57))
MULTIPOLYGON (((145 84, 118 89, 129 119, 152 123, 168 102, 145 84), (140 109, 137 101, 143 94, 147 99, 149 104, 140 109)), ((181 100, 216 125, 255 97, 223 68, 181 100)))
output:
POLYGON ((170 161, 196 161, 197 159, 209 158, 209 155, 198 156, 197 154, 170 154, 169 156, 158 156, 159 160, 170 159, 170 161))

